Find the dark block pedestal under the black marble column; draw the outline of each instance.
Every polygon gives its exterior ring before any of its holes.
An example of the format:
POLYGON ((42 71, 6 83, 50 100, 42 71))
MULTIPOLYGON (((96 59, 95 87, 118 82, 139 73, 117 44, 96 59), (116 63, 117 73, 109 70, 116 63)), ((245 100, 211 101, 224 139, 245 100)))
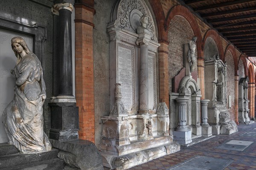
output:
POLYGON ((78 139, 79 108, 76 103, 49 103, 51 129, 49 138, 58 141, 78 139))

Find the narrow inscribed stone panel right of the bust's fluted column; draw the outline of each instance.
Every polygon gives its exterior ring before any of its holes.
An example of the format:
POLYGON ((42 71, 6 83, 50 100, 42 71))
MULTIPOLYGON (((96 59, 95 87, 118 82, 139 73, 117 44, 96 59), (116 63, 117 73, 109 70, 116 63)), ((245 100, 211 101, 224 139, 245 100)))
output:
POLYGON ((148 107, 150 110, 157 108, 155 62, 155 54, 148 53, 148 107))

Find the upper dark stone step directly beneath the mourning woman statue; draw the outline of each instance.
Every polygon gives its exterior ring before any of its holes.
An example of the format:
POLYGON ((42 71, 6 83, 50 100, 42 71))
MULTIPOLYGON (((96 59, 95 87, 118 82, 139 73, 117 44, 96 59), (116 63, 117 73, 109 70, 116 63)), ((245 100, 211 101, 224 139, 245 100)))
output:
POLYGON ((33 154, 21 154, 15 153, 10 155, 0 156, 0 170, 8 167, 15 167, 24 164, 31 164, 40 161, 46 161, 57 158, 58 150, 52 149, 48 152, 33 153, 33 154))

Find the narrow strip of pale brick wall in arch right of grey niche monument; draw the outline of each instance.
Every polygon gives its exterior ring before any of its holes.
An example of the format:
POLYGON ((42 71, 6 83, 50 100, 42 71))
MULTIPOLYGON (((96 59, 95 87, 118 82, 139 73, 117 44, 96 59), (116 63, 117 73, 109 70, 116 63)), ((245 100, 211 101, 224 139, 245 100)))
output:
POLYGON ((225 61, 227 61, 227 107, 228 107, 228 96, 232 96, 230 119, 235 121, 235 66, 233 56, 230 51, 227 51, 225 56, 225 61))

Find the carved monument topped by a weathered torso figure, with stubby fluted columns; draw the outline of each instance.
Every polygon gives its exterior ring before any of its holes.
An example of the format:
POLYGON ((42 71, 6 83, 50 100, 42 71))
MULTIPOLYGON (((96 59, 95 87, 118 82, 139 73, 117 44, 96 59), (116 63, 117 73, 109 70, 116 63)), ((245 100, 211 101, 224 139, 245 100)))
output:
POLYGON ((183 45, 184 68, 175 77, 171 104, 171 132, 182 145, 188 145, 193 138, 212 135, 207 123, 207 100, 200 101, 201 90, 197 84, 197 57, 195 55, 197 37, 192 37, 189 43, 183 45), (192 76, 193 75, 193 76, 192 76), (202 126, 200 107, 202 103, 202 126), (203 127, 203 128, 202 128, 203 127))

